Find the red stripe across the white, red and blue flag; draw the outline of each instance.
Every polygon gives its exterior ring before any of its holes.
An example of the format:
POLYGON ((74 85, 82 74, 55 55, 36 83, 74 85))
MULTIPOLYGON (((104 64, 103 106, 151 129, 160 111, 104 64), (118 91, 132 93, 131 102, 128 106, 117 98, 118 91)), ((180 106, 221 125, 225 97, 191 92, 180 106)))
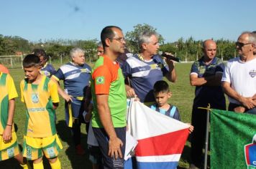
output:
POLYGON ((138 140, 136 156, 181 154, 188 138, 188 129, 138 140))

